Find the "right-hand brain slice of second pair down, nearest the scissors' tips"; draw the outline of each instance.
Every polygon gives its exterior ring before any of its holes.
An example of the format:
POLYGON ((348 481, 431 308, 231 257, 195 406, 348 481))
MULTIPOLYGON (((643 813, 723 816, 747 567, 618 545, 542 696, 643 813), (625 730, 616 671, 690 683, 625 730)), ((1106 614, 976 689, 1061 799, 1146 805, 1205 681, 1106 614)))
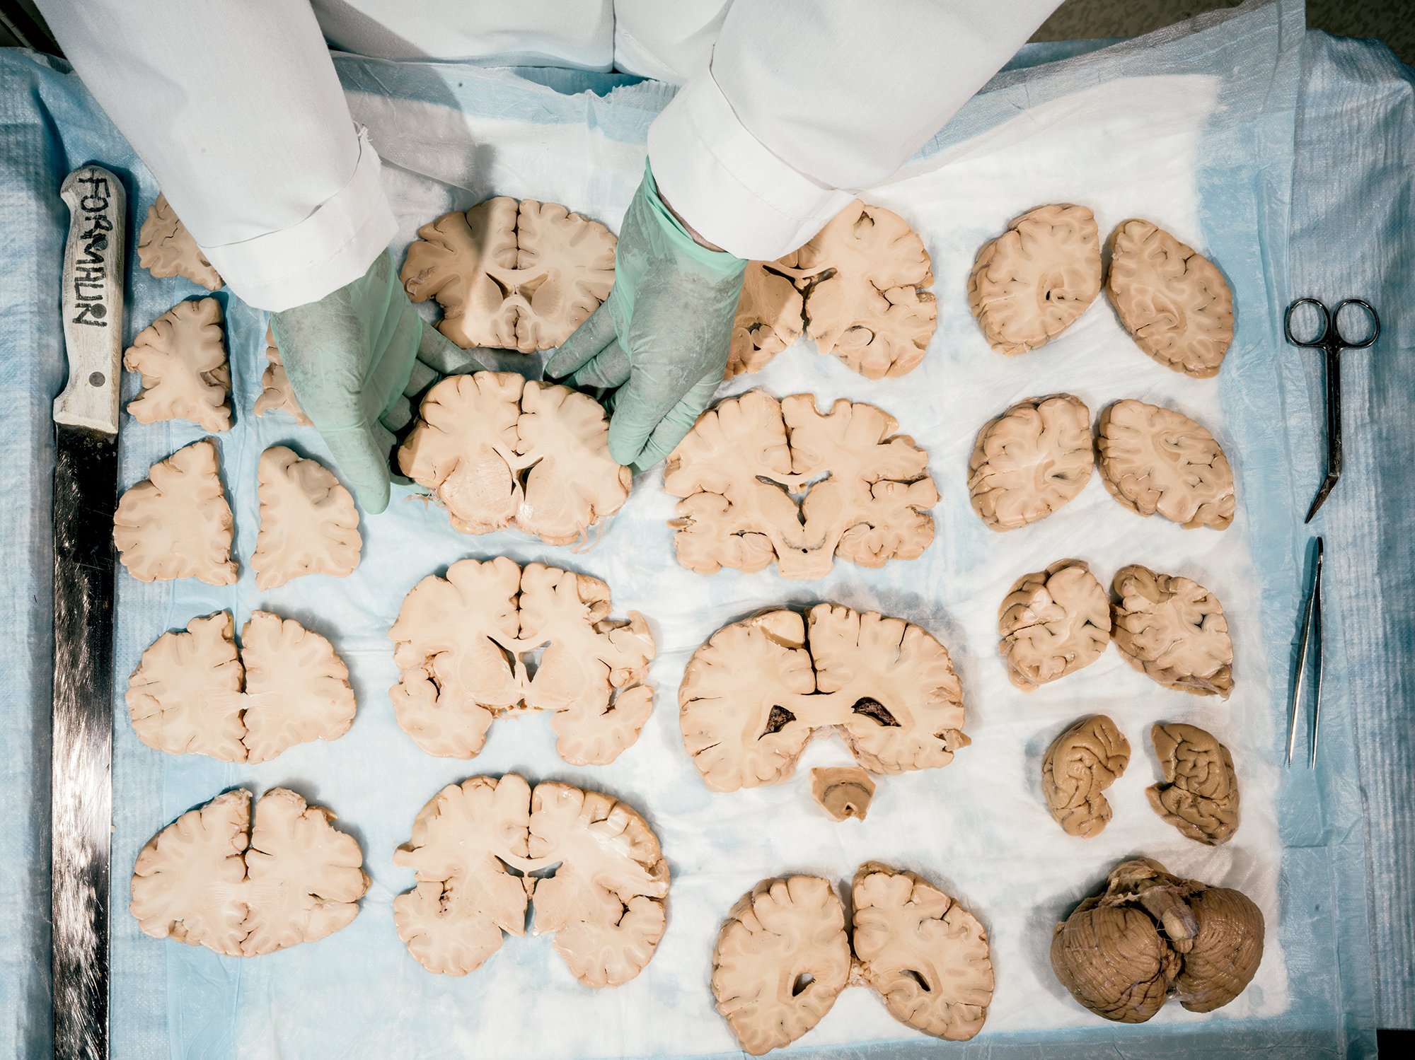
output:
POLYGON ((1234 522, 1234 472, 1207 430, 1173 408, 1116 401, 1097 421, 1101 481, 1132 512, 1186 529, 1234 522))

